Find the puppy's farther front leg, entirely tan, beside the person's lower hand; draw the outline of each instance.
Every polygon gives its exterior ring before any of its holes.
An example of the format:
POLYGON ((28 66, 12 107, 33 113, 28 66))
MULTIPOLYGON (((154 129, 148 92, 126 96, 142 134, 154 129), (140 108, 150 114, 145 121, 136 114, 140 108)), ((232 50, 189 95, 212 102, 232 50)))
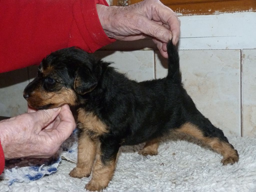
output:
POLYGON ((96 155, 95 142, 86 131, 82 131, 78 138, 77 166, 69 173, 71 177, 89 177, 96 155))

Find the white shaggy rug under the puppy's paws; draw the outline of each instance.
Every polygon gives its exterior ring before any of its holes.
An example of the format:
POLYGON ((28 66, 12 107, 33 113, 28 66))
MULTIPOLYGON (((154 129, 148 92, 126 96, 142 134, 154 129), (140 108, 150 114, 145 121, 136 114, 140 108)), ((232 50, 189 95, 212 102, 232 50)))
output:
MULTIPOLYGON (((255 192, 256 138, 230 138, 239 162, 222 166, 221 155, 185 135, 163 139, 157 156, 143 157, 143 144, 120 148, 114 177, 103 191, 109 192, 255 192), (180 140, 181 139, 181 140, 180 140)), ((57 172, 29 183, 0 181, 0 191, 80 192, 90 178, 68 174, 75 163, 62 159, 57 172)))

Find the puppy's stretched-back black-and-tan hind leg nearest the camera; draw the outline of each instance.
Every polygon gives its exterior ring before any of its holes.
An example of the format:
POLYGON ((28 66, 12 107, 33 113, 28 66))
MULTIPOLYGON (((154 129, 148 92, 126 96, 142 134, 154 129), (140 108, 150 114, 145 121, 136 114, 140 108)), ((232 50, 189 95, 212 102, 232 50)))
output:
POLYGON ((208 119, 204 118, 193 123, 184 123, 176 131, 192 135, 209 145, 213 150, 223 156, 221 160, 223 165, 238 162, 239 156, 237 150, 228 142, 222 130, 213 126, 208 119))

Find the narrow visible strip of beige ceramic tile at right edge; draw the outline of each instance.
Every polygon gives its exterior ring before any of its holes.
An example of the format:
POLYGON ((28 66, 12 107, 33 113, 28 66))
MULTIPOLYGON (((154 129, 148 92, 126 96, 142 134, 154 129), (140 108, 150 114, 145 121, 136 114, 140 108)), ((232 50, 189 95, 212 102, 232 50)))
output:
POLYGON ((256 136, 256 49, 243 50, 243 136, 256 136))

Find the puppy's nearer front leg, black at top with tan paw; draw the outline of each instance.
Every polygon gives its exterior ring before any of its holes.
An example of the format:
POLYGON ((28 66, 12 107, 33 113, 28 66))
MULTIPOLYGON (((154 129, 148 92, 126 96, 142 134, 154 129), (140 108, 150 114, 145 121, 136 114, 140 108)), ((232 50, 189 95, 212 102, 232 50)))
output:
POLYGON ((85 186, 87 190, 101 191, 108 186, 114 174, 119 147, 119 145, 106 143, 105 141, 98 143, 96 160, 92 168, 92 179, 85 186))

